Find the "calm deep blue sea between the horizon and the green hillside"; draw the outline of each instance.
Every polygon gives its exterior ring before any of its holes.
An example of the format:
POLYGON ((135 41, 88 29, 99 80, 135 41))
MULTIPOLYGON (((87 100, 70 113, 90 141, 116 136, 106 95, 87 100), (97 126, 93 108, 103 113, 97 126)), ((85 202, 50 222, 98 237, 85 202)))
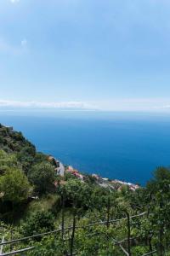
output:
POLYGON ((169 114, 1 111, 0 123, 82 172, 145 184, 170 166, 169 114))

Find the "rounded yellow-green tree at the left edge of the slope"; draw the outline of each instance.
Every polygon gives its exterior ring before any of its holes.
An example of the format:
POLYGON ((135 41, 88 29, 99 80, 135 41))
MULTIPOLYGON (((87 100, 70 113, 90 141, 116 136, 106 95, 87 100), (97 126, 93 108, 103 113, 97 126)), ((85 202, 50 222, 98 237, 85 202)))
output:
POLYGON ((0 176, 0 192, 3 194, 3 201, 17 204, 28 198, 31 186, 22 170, 11 168, 0 176))

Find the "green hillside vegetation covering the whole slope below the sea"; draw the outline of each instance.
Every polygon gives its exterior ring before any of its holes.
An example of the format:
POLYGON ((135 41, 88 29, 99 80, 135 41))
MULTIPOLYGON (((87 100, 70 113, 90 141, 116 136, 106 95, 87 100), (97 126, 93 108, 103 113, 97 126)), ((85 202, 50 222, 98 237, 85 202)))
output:
POLYGON ((57 176, 48 155, 3 125, 0 147, 0 239, 32 236, 4 245, 3 253, 31 247, 26 255, 170 255, 168 168, 133 191, 102 187, 86 174, 57 176))

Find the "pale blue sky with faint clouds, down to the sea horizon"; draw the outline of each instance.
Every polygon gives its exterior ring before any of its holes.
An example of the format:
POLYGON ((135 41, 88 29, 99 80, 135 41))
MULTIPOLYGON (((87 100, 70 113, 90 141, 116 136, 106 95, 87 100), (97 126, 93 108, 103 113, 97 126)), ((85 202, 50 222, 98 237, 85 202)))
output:
POLYGON ((0 110, 170 112, 169 0, 0 0, 0 110))

